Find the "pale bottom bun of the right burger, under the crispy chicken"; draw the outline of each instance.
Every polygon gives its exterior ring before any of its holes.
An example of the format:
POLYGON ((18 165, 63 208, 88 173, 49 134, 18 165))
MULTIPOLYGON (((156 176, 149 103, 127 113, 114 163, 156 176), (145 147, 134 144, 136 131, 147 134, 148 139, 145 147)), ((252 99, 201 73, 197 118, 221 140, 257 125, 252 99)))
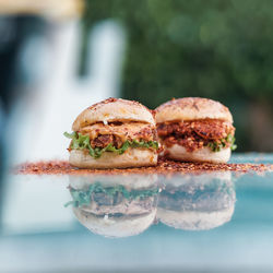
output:
POLYGON ((211 162, 226 163, 230 158, 230 149, 223 149, 219 152, 213 152, 210 147, 202 147, 193 152, 188 152, 183 146, 174 144, 166 147, 166 157, 185 162, 211 162))

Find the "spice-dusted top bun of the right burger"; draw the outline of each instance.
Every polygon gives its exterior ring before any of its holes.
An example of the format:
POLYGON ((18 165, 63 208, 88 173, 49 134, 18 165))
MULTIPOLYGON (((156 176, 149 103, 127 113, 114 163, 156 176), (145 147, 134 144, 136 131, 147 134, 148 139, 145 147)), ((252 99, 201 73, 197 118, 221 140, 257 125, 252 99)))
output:
POLYGON ((233 122, 233 116, 223 104, 202 97, 171 99, 156 109, 156 123, 174 120, 219 119, 233 122))

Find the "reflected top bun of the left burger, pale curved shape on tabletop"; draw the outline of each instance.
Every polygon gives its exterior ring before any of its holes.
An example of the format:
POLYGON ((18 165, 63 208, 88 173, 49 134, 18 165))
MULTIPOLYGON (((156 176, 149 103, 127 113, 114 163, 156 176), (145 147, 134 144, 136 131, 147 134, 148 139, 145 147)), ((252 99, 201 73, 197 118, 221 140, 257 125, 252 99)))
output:
POLYGON ((121 217, 107 217, 107 215, 97 217, 76 207, 73 209, 73 212, 80 223, 91 232, 111 238, 128 237, 143 233, 153 224, 156 215, 156 209, 147 214, 121 217))

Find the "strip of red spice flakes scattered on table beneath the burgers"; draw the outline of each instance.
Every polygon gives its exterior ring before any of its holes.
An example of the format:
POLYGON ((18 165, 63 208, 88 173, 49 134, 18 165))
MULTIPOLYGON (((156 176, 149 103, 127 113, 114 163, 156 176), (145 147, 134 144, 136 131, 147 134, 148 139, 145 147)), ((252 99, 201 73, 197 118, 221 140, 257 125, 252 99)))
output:
POLYGON ((130 175, 130 174, 195 174, 210 171, 264 173, 272 171, 273 164, 212 164, 212 163, 181 163, 159 158, 155 167, 127 169, 79 169, 66 161, 50 161, 24 163, 14 168, 15 174, 23 175, 130 175))

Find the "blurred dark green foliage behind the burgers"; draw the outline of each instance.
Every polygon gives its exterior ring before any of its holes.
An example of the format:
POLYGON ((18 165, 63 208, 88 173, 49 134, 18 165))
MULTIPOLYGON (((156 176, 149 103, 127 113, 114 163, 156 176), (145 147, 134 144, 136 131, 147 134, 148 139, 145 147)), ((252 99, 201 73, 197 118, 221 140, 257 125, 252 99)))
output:
POLYGON ((273 151, 260 141, 273 139, 272 0, 86 0, 84 39, 105 19, 127 32, 123 97, 151 108, 171 97, 221 100, 239 151, 273 151), (250 119, 261 119, 259 132, 250 119))

